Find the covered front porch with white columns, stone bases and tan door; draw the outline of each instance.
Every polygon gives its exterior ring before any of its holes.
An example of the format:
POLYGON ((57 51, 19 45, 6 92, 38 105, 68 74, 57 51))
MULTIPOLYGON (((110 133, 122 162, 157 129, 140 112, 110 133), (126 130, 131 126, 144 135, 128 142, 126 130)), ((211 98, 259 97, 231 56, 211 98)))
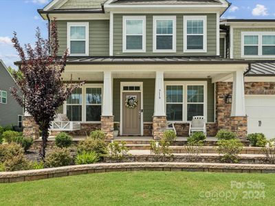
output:
MULTIPOLYGON (((232 130, 244 138, 247 131, 244 107, 245 62, 118 62, 88 64, 68 62, 64 82, 82 82, 59 109, 69 122, 68 133, 89 135, 101 129, 107 139, 119 136, 159 139, 168 122, 175 124, 178 137, 188 137, 193 116, 206 119, 208 137, 219 129, 232 130), (232 82, 224 80, 232 79, 232 82), (232 103, 226 97, 232 95, 232 103), (135 98, 134 108, 126 106, 135 98), (80 128, 74 128, 74 125, 80 128)), ((58 122, 58 120, 56 120, 58 122)), ((62 121, 54 129, 64 130, 62 121)))

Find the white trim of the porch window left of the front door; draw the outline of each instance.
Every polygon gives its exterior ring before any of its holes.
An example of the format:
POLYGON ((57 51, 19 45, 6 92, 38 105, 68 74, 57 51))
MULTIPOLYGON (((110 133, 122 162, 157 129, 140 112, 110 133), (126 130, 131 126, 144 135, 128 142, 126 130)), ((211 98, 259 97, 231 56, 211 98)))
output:
MULTIPOLYGON (((101 95, 102 95, 102 100, 101 100, 101 108, 103 104, 103 84, 85 84, 83 87, 80 87, 82 89, 82 104, 75 104, 75 105, 81 105, 82 106, 82 121, 74 121, 74 122, 79 122, 79 123, 94 123, 94 124, 99 124, 100 121, 86 121, 86 88, 101 88, 101 95)), ((71 104, 70 104, 71 105, 71 104)), ((96 105, 96 104, 88 104, 88 105, 96 105)), ((101 110, 102 113, 102 110, 101 110)), ((67 115, 67 100, 63 103, 63 114, 67 115)))

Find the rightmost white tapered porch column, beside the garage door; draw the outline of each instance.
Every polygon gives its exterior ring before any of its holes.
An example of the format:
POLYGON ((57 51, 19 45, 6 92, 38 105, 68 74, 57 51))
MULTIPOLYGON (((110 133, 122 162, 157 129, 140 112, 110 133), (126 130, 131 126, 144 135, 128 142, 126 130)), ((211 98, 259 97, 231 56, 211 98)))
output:
POLYGON ((233 73, 232 117, 245 117, 245 84, 243 71, 233 73))

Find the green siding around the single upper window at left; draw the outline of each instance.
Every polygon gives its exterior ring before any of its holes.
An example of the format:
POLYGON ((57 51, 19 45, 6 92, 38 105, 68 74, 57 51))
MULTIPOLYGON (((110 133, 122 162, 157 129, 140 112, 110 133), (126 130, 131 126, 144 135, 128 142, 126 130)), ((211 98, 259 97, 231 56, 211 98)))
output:
POLYGON ((109 20, 56 22, 60 55, 67 49, 67 22, 89 22, 89 56, 109 56, 109 20))

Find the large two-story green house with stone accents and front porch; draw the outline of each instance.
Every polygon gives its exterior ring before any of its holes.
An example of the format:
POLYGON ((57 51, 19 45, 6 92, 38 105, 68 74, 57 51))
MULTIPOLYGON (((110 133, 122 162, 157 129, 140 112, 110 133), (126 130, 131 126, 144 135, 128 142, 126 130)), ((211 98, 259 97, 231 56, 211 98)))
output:
POLYGON ((274 59, 275 21, 220 20, 229 6, 54 0, 39 10, 57 21, 60 54, 69 49, 63 80, 86 81, 61 108, 80 123, 74 134, 101 128, 113 138, 115 125, 157 139, 174 122, 186 137, 199 115, 210 137, 220 129, 275 137, 274 63, 256 63, 274 59))

